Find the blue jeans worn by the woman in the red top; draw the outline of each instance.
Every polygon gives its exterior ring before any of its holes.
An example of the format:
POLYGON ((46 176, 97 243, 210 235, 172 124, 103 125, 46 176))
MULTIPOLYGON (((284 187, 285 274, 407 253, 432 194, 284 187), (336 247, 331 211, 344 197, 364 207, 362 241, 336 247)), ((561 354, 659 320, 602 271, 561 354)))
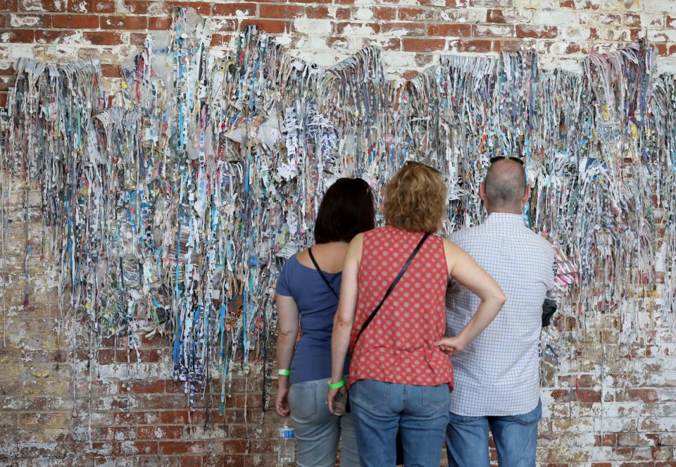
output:
POLYGON ((397 430, 406 467, 439 467, 449 423, 449 385, 359 380, 350 387, 350 406, 363 467, 396 465, 397 430))

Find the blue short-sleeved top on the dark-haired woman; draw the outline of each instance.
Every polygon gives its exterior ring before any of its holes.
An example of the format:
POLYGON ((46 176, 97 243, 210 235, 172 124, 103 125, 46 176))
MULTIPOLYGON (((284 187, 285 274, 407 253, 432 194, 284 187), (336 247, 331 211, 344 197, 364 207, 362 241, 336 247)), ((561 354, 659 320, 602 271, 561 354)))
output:
MULTIPOLYGON (((339 293, 342 273, 324 272, 333 289, 339 293)), ((292 297, 301 315, 301 340, 296 344, 291 363, 291 379, 296 382, 331 377, 331 332, 338 299, 315 268, 308 268, 292 256, 284 263, 277 280, 277 293, 292 297)), ((350 368, 349 356, 344 367, 350 368)))

